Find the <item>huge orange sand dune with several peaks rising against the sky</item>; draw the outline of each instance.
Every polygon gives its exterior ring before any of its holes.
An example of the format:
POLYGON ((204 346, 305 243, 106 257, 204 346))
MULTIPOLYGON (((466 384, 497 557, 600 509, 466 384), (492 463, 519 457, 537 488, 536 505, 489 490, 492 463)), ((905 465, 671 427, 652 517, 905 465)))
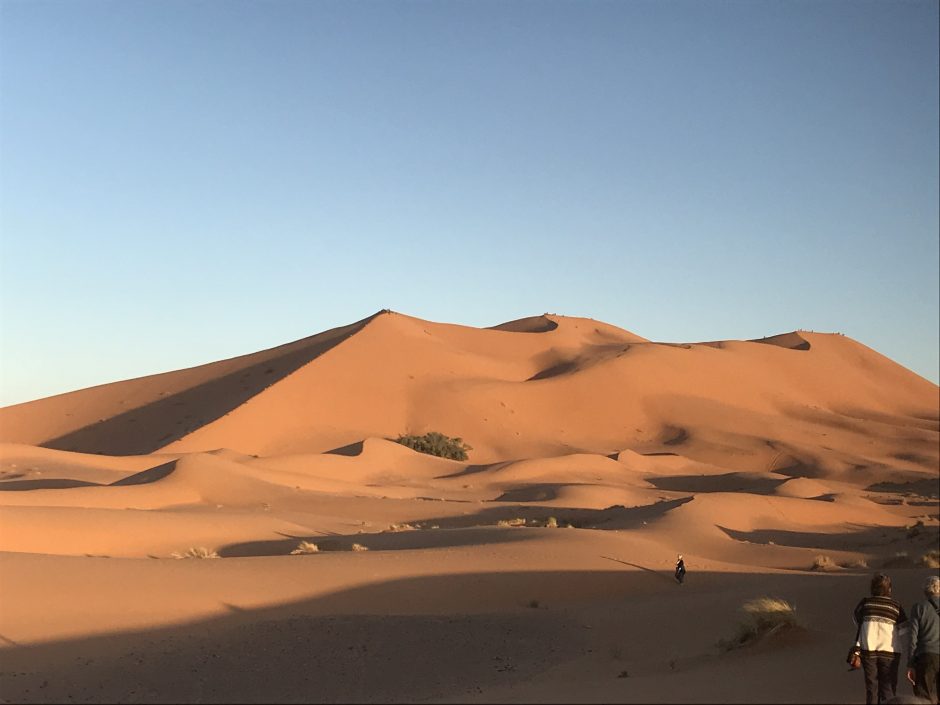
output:
POLYGON ((734 449, 731 470, 818 477, 935 467, 936 397, 839 335, 663 344, 584 318, 476 329, 383 311, 261 353, 7 407, 0 440, 271 455, 440 430, 479 462, 625 449, 713 462, 734 449), (860 437, 876 447, 853 455, 860 437))

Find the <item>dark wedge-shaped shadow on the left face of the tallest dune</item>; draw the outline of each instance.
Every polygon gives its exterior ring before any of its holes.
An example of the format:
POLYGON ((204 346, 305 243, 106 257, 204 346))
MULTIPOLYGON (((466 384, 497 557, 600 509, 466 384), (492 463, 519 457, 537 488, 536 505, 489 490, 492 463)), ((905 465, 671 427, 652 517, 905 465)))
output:
MULTIPOLYGON (((375 314, 379 315, 379 314, 375 314)), ((375 316, 286 346, 277 357, 236 369, 40 444, 103 455, 145 455, 225 416, 261 391, 336 347, 375 316)), ((173 374, 173 373, 170 373, 173 374)))

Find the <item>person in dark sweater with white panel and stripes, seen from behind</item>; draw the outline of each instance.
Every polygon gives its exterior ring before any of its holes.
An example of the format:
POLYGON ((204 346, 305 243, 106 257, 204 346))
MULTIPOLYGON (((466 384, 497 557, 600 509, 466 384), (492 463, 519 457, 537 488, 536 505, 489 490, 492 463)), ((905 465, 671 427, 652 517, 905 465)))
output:
POLYGON ((902 639, 907 636, 907 614, 891 597, 891 578, 877 573, 871 579, 871 597, 855 607, 858 646, 865 672, 865 703, 886 703, 898 689, 902 639))

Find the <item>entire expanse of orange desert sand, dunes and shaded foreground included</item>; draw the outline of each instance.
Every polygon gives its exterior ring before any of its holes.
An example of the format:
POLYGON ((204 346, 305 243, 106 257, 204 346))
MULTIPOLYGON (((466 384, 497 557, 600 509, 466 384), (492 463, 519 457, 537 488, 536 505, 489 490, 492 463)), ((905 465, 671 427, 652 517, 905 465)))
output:
POLYGON ((937 572, 940 389, 838 334, 382 311, 0 409, 0 490, 3 702, 864 702, 872 573, 937 572), (797 625, 720 646, 762 596, 797 625))

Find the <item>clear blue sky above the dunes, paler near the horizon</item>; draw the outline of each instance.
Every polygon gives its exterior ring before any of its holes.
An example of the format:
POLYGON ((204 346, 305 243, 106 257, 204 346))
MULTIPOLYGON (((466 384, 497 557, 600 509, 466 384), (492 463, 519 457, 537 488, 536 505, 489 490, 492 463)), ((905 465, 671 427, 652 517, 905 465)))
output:
POLYGON ((392 308, 936 382, 938 3, 0 2, 0 404, 392 308))

